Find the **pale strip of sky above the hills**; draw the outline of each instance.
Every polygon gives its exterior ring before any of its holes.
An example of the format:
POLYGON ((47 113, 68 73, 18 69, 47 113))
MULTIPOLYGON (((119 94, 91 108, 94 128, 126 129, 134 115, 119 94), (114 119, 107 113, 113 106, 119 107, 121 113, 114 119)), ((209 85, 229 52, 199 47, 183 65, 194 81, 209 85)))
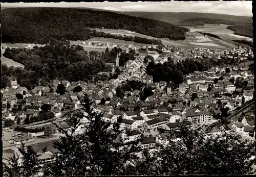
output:
POLYGON ((84 7, 112 11, 201 12, 252 16, 252 1, 202 2, 94 2, 94 3, 1 3, 3 7, 84 7))

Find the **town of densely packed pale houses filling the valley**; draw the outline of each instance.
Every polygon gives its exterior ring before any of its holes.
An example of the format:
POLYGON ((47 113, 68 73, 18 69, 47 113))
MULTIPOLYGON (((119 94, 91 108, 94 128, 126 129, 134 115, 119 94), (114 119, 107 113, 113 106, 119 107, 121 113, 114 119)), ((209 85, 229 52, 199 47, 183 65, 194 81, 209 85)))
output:
MULTIPOLYGON (((12 46, 8 46, 12 47, 12 46)), ((14 46, 15 47, 15 46, 14 46)), ((25 47, 25 46, 23 46, 25 47)), ((174 62, 184 61, 186 58, 214 58, 216 60, 225 56, 230 59, 246 61, 248 56, 253 57, 251 49, 233 48, 232 50, 209 50, 207 48, 195 48, 192 50, 179 49, 177 47, 164 46, 162 53, 156 50, 158 46, 120 47, 123 52, 135 49, 136 59, 129 60, 124 67, 119 67, 119 56, 116 63, 110 63, 112 72, 120 70, 117 79, 97 82, 69 82, 53 80, 52 87, 36 86, 32 90, 20 87, 17 81, 11 81, 11 87, 1 90, 3 95, 3 147, 7 149, 21 143, 36 144, 51 142, 60 135, 51 121, 58 122, 62 128, 70 129, 65 119, 67 113, 80 110, 81 100, 84 94, 91 97, 97 107, 97 111, 103 113, 106 121, 116 121, 122 116, 121 128, 131 130, 129 139, 125 142, 135 141, 144 134, 146 137, 139 141, 143 148, 153 147, 162 139, 159 129, 168 131, 177 129, 185 121, 187 126, 200 124, 202 133, 208 125, 220 121, 241 109, 253 100, 254 75, 248 66, 234 65, 231 67, 215 67, 209 70, 186 75, 185 81, 173 90, 170 83, 160 81, 153 82, 152 75, 146 74, 147 62, 150 58, 153 62, 164 63, 168 60, 174 62), (173 52, 171 52, 173 51, 173 52), (233 79, 233 83, 230 82, 233 79), (242 79, 246 86, 243 89, 235 86, 242 79), (123 97, 117 96, 117 87, 126 82, 146 83, 153 88, 152 95, 145 100, 140 100, 141 90, 125 91, 123 97), (62 85, 66 89, 63 93, 57 93, 57 88, 62 85), (40 112, 44 113, 40 115, 40 112), (47 118, 46 118, 47 117, 47 118), (44 120, 45 119, 45 120, 44 120)), ((159 49, 160 50, 160 49, 159 49)), ((108 64, 108 63, 106 63, 108 64)), ((109 72, 100 72, 99 75, 109 72)), ((80 117, 80 125, 77 133, 82 133, 88 125, 85 117, 80 117)), ((212 129, 212 134, 218 134, 222 129, 234 130, 244 137, 254 136, 254 113, 253 108, 239 117, 232 118, 229 124, 212 129)), ((48 155, 42 155, 46 161, 53 161, 48 155), (50 159, 50 160, 49 160, 50 159)), ((4 161, 8 162, 10 154, 4 153, 4 161)))

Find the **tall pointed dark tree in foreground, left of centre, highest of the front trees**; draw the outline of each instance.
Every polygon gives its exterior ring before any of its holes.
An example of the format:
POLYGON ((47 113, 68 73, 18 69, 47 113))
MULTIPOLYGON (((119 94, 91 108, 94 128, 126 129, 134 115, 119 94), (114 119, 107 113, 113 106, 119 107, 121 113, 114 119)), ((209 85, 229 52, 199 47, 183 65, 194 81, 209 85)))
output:
POLYGON ((69 116, 67 123, 71 126, 70 131, 56 124, 64 136, 54 142, 54 147, 58 150, 56 161, 45 167, 44 175, 125 174, 124 165, 136 147, 121 147, 123 142, 119 123, 104 121, 103 114, 95 111, 94 103, 89 98, 84 98, 83 106, 84 113, 77 112, 74 116, 69 116), (79 117, 86 117, 90 124, 83 134, 75 135, 79 117))

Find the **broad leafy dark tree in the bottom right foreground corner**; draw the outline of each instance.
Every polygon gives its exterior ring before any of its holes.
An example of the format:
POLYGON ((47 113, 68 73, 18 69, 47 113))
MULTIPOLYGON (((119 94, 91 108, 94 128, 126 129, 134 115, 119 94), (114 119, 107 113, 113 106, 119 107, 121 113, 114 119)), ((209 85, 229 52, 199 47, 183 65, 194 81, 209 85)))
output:
POLYGON ((209 131, 204 134, 184 125, 169 131, 168 145, 157 148, 161 174, 247 174, 255 161, 248 160, 254 155, 254 142, 235 132, 212 135, 209 131))

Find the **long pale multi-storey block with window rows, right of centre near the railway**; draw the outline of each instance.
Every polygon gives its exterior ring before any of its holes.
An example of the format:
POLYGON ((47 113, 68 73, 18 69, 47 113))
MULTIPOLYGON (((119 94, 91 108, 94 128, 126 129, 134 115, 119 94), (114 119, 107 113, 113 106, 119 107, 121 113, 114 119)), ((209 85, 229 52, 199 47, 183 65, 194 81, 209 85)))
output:
POLYGON ((188 120, 190 122, 208 122, 212 119, 212 115, 209 111, 207 112, 193 112, 193 113, 185 113, 182 115, 182 120, 188 120))

